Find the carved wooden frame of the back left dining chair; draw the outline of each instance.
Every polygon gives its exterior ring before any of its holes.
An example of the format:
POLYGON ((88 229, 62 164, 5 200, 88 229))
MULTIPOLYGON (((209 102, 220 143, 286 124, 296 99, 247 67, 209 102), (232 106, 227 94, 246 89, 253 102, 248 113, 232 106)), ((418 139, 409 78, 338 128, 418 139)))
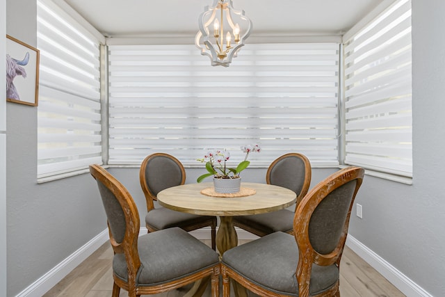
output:
MULTIPOLYGON (((159 153, 150 154, 149 156, 145 157, 143 162, 140 164, 139 181, 140 181, 140 186, 142 188, 142 191, 145 195, 145 200, 147 201, 147 212, 154 209, 154 201, 157 201, 158 199, 156 198, 156 195, 152 192, 152 190, 149 188, 149 186, 147 184, 147 176, 145 174, 145 172, 146 172, 145 168, 147 168, 147 164, 149 163, 150 160, 152 160, 156 157, 159 157, 159 156, 163 156, 165 158, 171 159, 172 161, 175 161, 175 163, 177 163, 177 166, 180 168, 181 173, 182 173, 182 178, 181 178, 180 184, 182 185, 186 182, 186 170, 184 169, 184 166, 182 165, 181 161, 176 159, 175 156, 159 152, 159 153)), ((216 250, 216 225, 217 225, 217 223, 218 223, 217 218, 212 217, 212 218, 209 218, 208 220, 202 220, 199 223, 194 223, 191 225, 183 226, 181 228, 187 232, 191 232, 193 230, 201 229, 203 227, 211 227, 211 247, 213 248, 213 250, 216 250)), ((145 226, 147 227, 148 232, 158 231, 158 229, 156 229, 152 225, 145 224, 145 226)))

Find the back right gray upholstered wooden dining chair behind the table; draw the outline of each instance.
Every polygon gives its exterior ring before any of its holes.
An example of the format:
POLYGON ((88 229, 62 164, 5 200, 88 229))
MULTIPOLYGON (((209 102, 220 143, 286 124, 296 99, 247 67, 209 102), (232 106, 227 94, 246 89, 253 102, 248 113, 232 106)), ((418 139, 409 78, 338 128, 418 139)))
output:
MULTIPOLYGON (((311 175, 312 169, 309 159, 304 154, 293 152, 284 154, 270 163, 266 172, 266 183, 294 191, 297 194, 297 208, 309 190, 311 175)), ((282 209, 266 214, 234 216, 232 220, 236 227, 240 227, 257 236, 265 236, 277 231, 292 234, 294 214, 295 211, 282 209)))

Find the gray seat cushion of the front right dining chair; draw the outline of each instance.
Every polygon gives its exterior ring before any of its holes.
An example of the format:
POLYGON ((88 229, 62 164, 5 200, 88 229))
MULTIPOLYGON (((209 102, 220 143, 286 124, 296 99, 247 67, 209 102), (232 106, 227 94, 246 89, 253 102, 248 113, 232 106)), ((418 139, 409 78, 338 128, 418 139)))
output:
MULTIPOLYGON (((298 246, 293 235, 276 232, 250 241, 223 255, 223 263, 245 278, 270 291, 298 296, 296 269, 298 246)), ((339 268, 312 266, 309 292, 320 294, 339 280, 339 268)))

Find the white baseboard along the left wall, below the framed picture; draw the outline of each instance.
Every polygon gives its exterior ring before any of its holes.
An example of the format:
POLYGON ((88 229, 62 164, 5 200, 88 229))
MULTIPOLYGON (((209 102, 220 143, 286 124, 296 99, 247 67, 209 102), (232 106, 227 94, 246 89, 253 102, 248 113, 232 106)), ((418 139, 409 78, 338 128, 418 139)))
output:
POLYGON ((79 266, 86 258, 95 252, 102 244, 108 240, 108 229, 102 231, 76 250, 69 257, 57 264, 50 271, 42 275, 38 280, 33 282, 29 287, 17 294, 16 297, 40 297, 47 293, 60 280, 65 278, 74 268, 79 266))

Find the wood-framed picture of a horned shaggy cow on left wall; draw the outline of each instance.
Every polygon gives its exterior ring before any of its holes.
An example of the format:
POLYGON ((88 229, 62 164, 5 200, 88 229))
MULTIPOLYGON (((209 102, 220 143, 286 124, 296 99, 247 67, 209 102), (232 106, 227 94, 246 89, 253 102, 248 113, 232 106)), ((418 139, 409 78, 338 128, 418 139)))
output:
POLYGON ((6 35, 6 101, 38 106, 40 51, 6 35))

